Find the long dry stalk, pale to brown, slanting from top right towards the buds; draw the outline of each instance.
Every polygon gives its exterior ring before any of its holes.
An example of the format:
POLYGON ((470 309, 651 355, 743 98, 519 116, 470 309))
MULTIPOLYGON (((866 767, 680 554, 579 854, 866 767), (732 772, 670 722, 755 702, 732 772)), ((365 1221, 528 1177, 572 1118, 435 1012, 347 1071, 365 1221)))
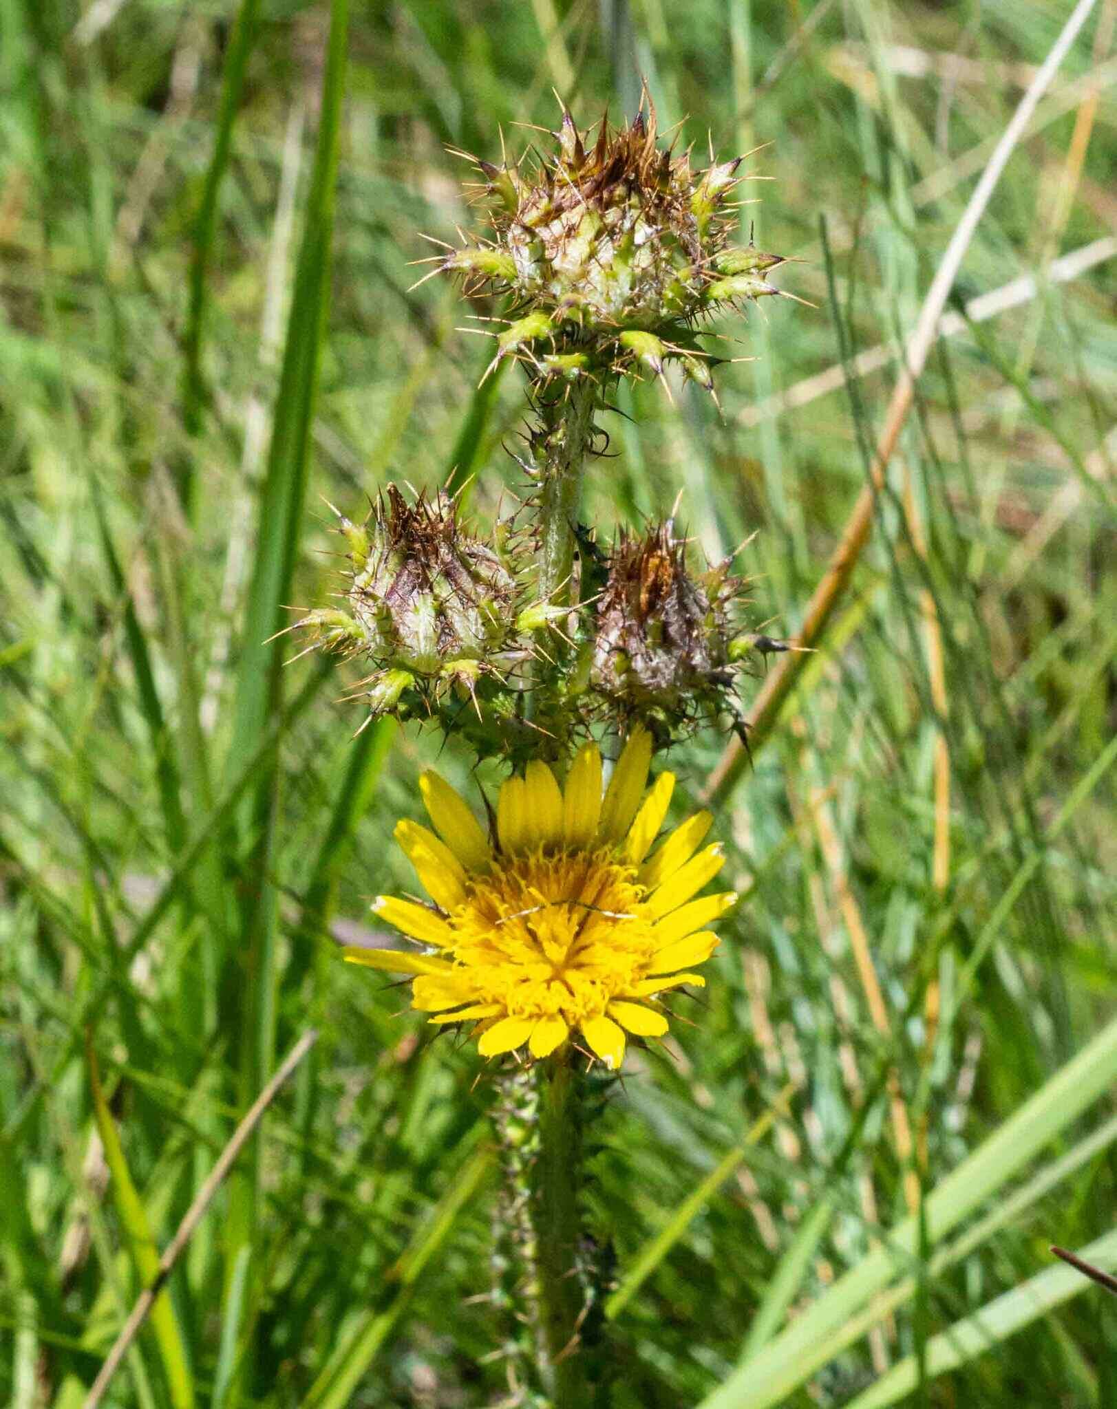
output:
MULTIPOLYGON (((1039 72, 1035 75, 1035 79, 1030 85, 1024 97, 1020 100, 1011 121, 1001 134, 1001 138, 997 142, 993 155, 989 158, 989 163, 982 172, 982 178, 977 182, 969 203, 966 204, 962 218, 951 237, 951 242, 939 262, 935 278, 931 280, 931 287, 924 299, 915 328, 907 342, 900 379, 896 385, 896 390, 893 392, 893 397, 884 417, 884 427, 877 441, 876 455, 870 466, 869 483, 857 496, 853 511, 849 516, 834 554, 831 555, 831 561, 826 565, 822 579, 807 606, 802 630, 800 631, 797 641, 800 645, 810 647, 822 638, 835 607, 849 586, 853 569, 857 565, 865 544, 869 541, 869 534, 873 527, 876 499, 884 486, 884 475, 889 468, 889 462, 891 461, 897 441, 900 440, 900 433, 904 428, 908 411, 911 410, 915 396, 915 383, 922 375, 928 354, 938 340, 939 320, 942 318, 946 299, 953 287, 955 279, 958 278, 958 271, 962 265, 966 249, 969 248, 969 242, 973 238, 973 232, 976 231, 982 216, 984 214, 989 199, 1000 180, 1008 158, 1013 155, 1013 151, 1027 130, 1037 103, 1051 85, 1051 80, 1058 72, 1059 65, 1066 56, 1070 45, 1075 42, 1075 38, 1083 24, 1089 18, 1094 4, 1096 0, 1079 0, 1075 6, 1070 18, 1063 25, 1062 34, 1055 41, 1055 45, 1044 61, 1039 72)), ((764 681, 764 686, 757 696, 749 719, 753 751, 760 748, 767 735, 771 733, 771 727, 776 723, 787 696, 791 693, 800 678, 802 662, 805 659, 807 655, 801 652, 788 652, 780 658, 780 664, 764 681)), ((740 776, 746 762, 747 754, 745 752, 743 745, 738 740, 733 740, 724 751, 716 768, 714 769, 709 785, 705 790, 705 800, 719 802, 725 799, 732 792, 733 785, 740 776)))

